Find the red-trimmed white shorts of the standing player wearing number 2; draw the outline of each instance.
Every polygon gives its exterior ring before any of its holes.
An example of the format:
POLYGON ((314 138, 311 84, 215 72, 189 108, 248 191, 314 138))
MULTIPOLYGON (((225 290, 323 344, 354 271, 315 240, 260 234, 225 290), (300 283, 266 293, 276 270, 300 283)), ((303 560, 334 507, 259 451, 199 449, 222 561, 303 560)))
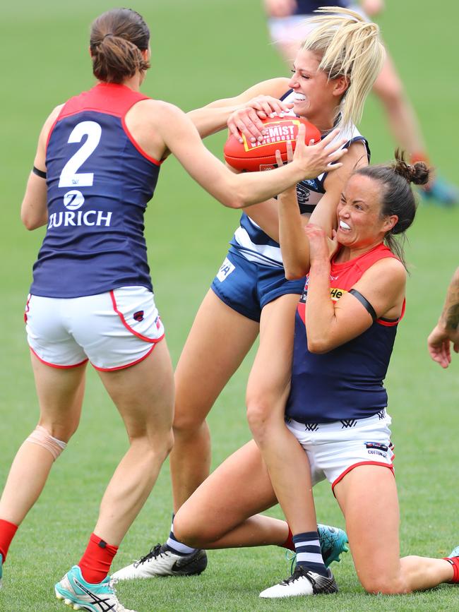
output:
POLYGON ((164 337, 146 287, 65 299, 30 295, 24 318, 30 349, 54 368, 74 368, 88 359, 101 371, 128 368, 164 337))

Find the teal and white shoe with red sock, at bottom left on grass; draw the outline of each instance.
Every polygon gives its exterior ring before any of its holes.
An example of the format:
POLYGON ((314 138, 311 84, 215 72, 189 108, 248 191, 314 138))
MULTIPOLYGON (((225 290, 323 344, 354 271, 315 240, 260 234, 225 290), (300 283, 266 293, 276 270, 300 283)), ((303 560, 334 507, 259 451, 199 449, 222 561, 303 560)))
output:
POLYGON ((70 571, 58 582, 54 591, 57 599, 63 599, 64 604, 73 610, 89 610, 90 612, 136 612, 122 606, 114 589, 114 580, 109 576, 90 584, 81 575, 78 565, 73 565, 70 571))

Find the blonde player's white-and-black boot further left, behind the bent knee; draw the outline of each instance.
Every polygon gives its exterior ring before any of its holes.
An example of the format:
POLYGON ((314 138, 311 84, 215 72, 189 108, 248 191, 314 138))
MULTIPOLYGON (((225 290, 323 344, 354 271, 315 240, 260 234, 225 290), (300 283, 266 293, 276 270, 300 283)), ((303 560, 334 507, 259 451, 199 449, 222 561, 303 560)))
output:
POLYGON ((157 544, 148 555, 114 572, 112 577, 115 580, 133 580, 155 576, 191 576, 201 574, 206 567, 207 555, 201 549, 189 555, 176 555, 168 551, 165 544, 157 544))

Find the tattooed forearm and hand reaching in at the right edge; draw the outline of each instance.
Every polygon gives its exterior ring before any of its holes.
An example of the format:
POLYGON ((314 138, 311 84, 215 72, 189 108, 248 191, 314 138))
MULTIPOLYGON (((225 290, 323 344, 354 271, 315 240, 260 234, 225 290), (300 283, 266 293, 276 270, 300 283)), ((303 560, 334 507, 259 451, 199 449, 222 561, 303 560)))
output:
POLYGON ((459 268, 448 286, 439 323, 427 338, 429 355, 442 368, 451 364, 451 344, 455 352, 459 353, 459 268))

